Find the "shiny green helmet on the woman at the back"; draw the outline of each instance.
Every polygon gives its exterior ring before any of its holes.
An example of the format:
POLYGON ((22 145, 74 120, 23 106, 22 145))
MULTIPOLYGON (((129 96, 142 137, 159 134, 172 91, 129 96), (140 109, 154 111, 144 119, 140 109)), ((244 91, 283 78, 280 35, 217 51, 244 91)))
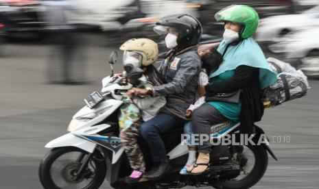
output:
POLYGON ((259 25, 259 16, 255 9, 247 5, 230 5, 215 14, 216 21, 231 21, 244 25, 241 38, 255 34, 259 25))

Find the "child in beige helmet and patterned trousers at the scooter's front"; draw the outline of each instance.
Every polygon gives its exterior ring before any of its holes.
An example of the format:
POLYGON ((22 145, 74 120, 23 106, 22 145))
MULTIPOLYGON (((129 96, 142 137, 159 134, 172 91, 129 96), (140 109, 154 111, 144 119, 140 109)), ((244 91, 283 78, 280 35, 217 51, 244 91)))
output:
MULTIPOLYGON (((151 90, 152 86, 163 84, 161 76, 152 65, 158 57, 157 44, 147 38, 131 39, 123 43, 120 49, 123 53, 123 65, 126 76, 133 86, 151 90)), ((119 135, 121 144, 128 156, 132 173, 126 177, 126 182, 134 183, 141 179, 145 172, 143 153, 137 144, 139 127, 143 121, 153 118, 166 103, 163 96, 134 97, 134 88, 126 92, 132 96, 132 101, 125 103, 121 108, 119 118, 120 127, 124 127, 119 135)))

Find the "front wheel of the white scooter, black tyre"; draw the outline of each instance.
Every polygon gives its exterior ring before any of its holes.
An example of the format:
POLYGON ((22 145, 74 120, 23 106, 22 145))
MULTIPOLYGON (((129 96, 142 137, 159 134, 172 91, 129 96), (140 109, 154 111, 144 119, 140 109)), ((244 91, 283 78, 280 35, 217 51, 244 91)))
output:
POLYGON ((90 153, 75 147, 62 147, 49 151, 40 162, 39 178, 46 189, 97 189, 106 175, 106 162, 95 151, 81 175, 76 175, 85 157, 90 153))

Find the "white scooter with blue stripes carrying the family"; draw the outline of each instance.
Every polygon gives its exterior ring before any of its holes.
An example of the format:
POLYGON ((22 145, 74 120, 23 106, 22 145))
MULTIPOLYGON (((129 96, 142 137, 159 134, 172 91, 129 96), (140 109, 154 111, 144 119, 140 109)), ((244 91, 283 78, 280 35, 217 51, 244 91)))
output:
MULTIPOLYGON (((161 135, 168 151, 171 168, 156 180, 141 179, 136 184, 126 184, 124 178, 132 171, 119 140, 118 114, 124 92, 132 85, 127 79, 113 74, 113 64, 118 62, 116 51, 110 55, 111 75, 102 80, 101 93, 93 92, 86 105, 74 116, 68 134, 45 145, 51 149, 40 162, 38 174, 46 189, 86 188, 96 189, 104 178, 117 189, 183 188, 185 186, 213 186, 214 188, 250 188, 255 185, 268 166, 268 153, 276 160, 269 146, 217 145, 212 147, 210 166, 201 175, 180 175, 187 162, 188 148, 181 140, 182 128, 161 135), (126 81, 125 81, 126 80, 126 81)), ((239 134, 239 123, 225 122, 212 125, 213 140, 227 134, 239 134)), ((256 126, 258 140, 264 132, 256 126)), ((265 140, 263 138, 262 140, 265 140)), ((152 166, 150 151, 143 138, 139 138, 147 170, 152 166)))

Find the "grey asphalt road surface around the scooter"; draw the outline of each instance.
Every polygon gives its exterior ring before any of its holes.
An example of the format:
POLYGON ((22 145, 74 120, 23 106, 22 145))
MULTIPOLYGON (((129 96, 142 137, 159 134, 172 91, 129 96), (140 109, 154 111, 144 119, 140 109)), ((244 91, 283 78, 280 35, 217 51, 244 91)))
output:
MULTIPOLYGON (((66 133, 83 99, 99 89, 102 77, 110 73, 106 60, 113 49, 101 40, 86 44, 90 84, 48 85, 45 71, 50 49, 49 45, 7 45, 0 58, 1 189, 42 188, 38 164, 48 151, 45 144, 66 133)), ((252 188, 319 188, 319 81, 310 84, 306 97, 266 110, 257 124, 271 140, 290 136, 290 142, 271 143, 279 161, 270 157, 263 179, 252 188)), ((101 188, 110 188, 107 181, 101 188)))

